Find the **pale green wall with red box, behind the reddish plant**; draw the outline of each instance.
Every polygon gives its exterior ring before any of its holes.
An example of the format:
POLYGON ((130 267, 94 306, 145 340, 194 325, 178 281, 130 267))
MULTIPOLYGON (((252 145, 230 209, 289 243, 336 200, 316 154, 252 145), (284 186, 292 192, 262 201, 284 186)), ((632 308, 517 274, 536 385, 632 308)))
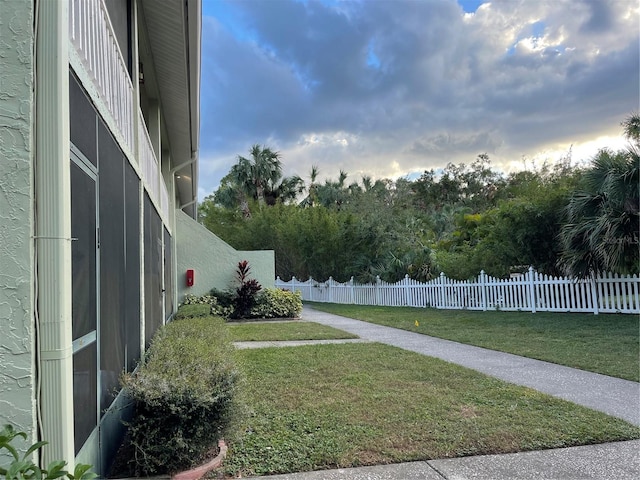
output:
POLYGON ((239 251, 222 241, 183 212, 176 212, 176 254, 178 302, 185 294, 204 295, 212 288, 226 290, 235 280, 238 262, 247 260, 250 277, 264 288, 275 283, 273 250, 239 251), (195 271, 193 287, 187 287, 185 273, 195 271))

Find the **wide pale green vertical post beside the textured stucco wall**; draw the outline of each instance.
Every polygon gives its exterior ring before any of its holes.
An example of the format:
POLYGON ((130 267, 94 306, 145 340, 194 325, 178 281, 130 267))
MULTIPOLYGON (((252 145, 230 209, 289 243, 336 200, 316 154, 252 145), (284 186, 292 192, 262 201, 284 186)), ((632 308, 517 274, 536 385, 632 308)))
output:
POLYGON ((36 329, 43 464, 73 471, 69 2, 40 2, 36 40, 36 329))

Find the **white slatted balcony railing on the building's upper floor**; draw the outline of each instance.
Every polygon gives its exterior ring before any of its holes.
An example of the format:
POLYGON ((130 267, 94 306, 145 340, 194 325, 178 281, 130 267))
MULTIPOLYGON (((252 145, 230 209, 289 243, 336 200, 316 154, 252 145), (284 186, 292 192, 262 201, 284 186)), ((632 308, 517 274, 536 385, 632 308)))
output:
POLYGON ((69 17, 71 44, 126 146, 138 159, 149 195, 160 207, 164 218, 168 219, 167 187, 142 113, 134 112, 135 91, 104 0, 70 0, 69 17), (137 141, 134 121, 138 122, 137 141))

